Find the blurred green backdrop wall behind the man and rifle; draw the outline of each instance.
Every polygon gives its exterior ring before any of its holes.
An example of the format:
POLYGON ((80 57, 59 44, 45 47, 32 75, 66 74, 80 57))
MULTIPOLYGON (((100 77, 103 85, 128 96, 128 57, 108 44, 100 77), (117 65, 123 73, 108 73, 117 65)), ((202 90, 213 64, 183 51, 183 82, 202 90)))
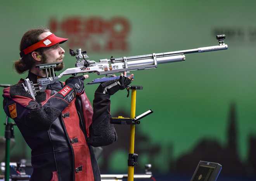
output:
MULTIPOLYGON (((190 54, 183 62, 133 72, 133 85, 144 86, 137 94, 137 114, 148 109, 154 111, 137 128, 150 138, 149 144, 157 143, 161 147, 172 144, 172 155, 176 159, 205 137, 226 145, 228 111, 230 103, 235 102, 239 157, 246 161, 248 136, 256 133, 255 7, 253 0, 1 2, 0 83, 15 84, 20 77, 26 77, 26 73, 18 75, 12 69, 14 60, 19 58, 21 37, 30 28, 49 26, 53 18, 58 22, 75 16, 82 19, 96 16, 106 21, 118 16, 128 20, 128 50, 88 51, 90 60, 95 61, 111 55, 118 58, 217 45, 216 32, 224 32, 227 34, 225 43, 229 46, 226 51, 190 54)), ((59 36, 63 33, 57 32, 59 36)), ((75 60, 68 55, 68 49, 80 47, 68 47, 66 43, 63 48, 66 68, 73 67, 75 60)), ((90 80, 96 77, 90 74, 90 80)), ((86 86, 91 101, 96 88, 97 85, 86 86)), ((111 97, 111 112, 115 114, 120 109, 130 111, 130 99, 126 98, 125 90, 111 97)), ((0 118, 3 123, 2 109, 0 118)), ((4 135, 3 125, 0 135, 4 135)), ((24 146, 17 128, 15 135, 12 156, 29 158, 30 150, 24 146)), ((123 162, 113 159, 113 170, 126 165, 126 154, 119 152, 116 157, 123 162)), ((163 153, 157 165, 163 172, 168 170, 164 164, 168 163, 163 153)))

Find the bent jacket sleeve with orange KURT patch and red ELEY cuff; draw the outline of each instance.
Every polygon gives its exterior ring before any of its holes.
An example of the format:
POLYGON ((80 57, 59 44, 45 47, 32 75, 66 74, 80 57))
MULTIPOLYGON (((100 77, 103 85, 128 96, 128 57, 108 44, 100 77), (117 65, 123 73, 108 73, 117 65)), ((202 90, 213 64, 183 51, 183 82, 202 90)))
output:
POLYGON ((35 101, 22 84, 16 84, 5 88, 3 97, 7 116, 33 129, 48 130, 62 110, 73 101, 75 90, 66 85, 42 104, 35 101))

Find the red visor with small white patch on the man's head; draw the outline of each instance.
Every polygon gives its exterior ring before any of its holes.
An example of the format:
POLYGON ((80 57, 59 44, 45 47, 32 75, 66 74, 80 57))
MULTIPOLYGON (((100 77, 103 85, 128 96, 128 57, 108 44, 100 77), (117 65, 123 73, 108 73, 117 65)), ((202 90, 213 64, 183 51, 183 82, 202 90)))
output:
POLYGON ((19 53, 19 55, 21 55, 21 57, 22 57, 24 55, 27 55, 28 53, 31 53, 32 51, 34 51, 38 48, 54 46, 57 43, 61 44, 67 40, 68 40, 67 38, 60 38, 60 37, 55 36, 54 34, 50 34, 46 38, 38 41, 35 44, 32 44, 28 48, 25 48, 24 50, 22 50, 19 53))

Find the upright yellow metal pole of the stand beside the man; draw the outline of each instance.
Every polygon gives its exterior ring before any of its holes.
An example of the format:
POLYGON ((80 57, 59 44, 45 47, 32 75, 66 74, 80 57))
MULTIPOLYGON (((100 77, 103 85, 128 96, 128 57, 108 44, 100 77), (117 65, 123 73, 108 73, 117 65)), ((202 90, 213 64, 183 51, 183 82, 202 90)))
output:
MULTIPOLYGON (((131 90, 131 118, 135 118, 136 111, 136 89, 131 90)), ((130 147, 129 154, 134 154, 135 125, 130 129, 130 147)), ((133 181, 134 166, 128 166, 128 181, 133 181)))

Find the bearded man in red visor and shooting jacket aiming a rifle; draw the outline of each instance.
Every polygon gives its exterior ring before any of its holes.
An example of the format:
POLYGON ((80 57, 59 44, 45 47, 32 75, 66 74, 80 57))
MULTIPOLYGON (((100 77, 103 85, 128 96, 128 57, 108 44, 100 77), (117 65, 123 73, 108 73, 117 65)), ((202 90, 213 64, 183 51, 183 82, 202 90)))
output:
MULTIPOLYGON (((61 62, 67 41, 48 29, 27 31, 20 44, 21 59, 14 63, 18 73, 29 71, 34 83, 46 72, 37 64, 61 62)), ((69 78, 65 83, 48 85, 34 100, 23 88, 23 79, 3 90, 5 113, 14 119, 31 148, 31 181, 100 181, 100 172, 92 146, 109 145, 116 140, 110 124, 110 96, 130 84, 130 77, 104 82, 95 91, 92 106, 84 92, 88 75, 69 78), (116 84, 118 82, 118 84, 116 84), (103 93, 105 92, 105 93, 103 93)))

